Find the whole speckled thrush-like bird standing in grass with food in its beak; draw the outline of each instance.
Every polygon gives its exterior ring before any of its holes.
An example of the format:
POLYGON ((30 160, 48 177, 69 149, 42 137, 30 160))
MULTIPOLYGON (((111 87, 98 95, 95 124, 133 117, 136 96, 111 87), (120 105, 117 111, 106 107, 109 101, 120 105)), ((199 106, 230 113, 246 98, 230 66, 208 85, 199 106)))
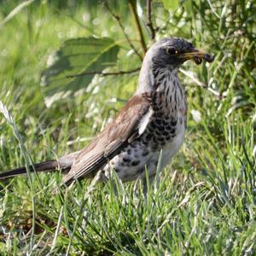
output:
MULTIPOLYGON (((137 90, 113 121, 82 150, 30 167, 31 172, 67 172, 61 185, 81 178, 154 180, 161 152, 163 169, 177 154, 187 127, 187 98, 178 79, 183 62, 212 62, 214 55, 183 38, 161 38, 143 59, 137 90)), ((26 167, 0 173, 0 180, 26 173, 26 167)))

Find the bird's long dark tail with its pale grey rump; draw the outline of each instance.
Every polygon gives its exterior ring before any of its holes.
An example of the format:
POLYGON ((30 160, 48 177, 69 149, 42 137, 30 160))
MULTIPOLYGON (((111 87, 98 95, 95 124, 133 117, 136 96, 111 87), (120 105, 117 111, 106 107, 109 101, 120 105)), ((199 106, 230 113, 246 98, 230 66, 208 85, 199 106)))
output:
MULTIPOLYGON (((79 152, 75 152, 72 154, 67 154, 62 156, 58 160, 49 160, 42 163, 35 164, 30 166, 31 172, 54 172, 58 168, 61 168, 61 171, 67 172, 73 165, 73 160, 79 152)), ((8 172, 0 172, 0 180, 7 179, 9 177, 15 177, 21 174, 26 174, 26 167, 16 168, 14 170, 10 170, 8 172)))

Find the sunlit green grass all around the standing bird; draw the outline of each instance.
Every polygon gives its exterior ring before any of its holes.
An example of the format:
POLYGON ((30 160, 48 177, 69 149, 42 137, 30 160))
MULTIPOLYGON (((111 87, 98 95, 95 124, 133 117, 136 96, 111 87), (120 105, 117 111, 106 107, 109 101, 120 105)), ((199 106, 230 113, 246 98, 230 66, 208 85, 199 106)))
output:
MULTIPOLYGON (((0 4, 3 19, 17 3, 0 4)), ((187 1, 177 11, 166 11, 154 2, 159 38, 188 38, 216 54, 211 65, 188 62, 183 69, 221 95, 180 73, 189 102, 186 142, 161 174, 159 187, 153 185, 146 200, 140 186, 135 193, 135 183, 123 184, 117 177, 93 191, 84 181, 60 195, 51 193, 60 173, 32 175, 32 183, 27 177, 2 182, 3 255, 256 253, 255 4, 212 4, 187 1)), ((18 130, 1 116, 1 171, 82 148, 136 90, 137 73, 106 77, 84 94, 45 108, 40 74, 64 40, 91 34, 124 40, 101 6, 67 5, 32 3, 0 28, 0 100, 18 130)), ((112 8, 128 12, 125 2, 112 8)), ((123 22, 135 39, 130 15, 123 22)), ((124 43, 119 67, 139 67, 136 55, 127 61, 128 51, 124 43)))

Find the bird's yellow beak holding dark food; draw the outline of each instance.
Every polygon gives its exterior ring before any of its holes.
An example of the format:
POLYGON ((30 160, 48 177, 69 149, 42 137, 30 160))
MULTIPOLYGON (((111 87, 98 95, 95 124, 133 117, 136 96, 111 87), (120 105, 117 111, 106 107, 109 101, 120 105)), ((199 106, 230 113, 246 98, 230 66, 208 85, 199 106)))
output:
POLYGON ((207 62, 212 62, 214 61, 214 55, 208 54, 205 50, 203 49, 191 49, 191 51, 183 53, 181 55, 181 58, 184 61, 188 60, 193 60, 197 65, 201 64, 202 60, 205 60, 207 62))

